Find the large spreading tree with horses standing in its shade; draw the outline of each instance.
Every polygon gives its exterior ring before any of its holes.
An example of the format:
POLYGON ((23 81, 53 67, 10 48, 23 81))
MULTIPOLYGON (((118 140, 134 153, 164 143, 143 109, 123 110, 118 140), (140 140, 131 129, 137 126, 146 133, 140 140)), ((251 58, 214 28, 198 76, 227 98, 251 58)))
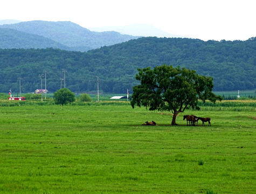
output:
POLYGON ((131 105, 145 106, 149 110, 168 110, 174 115, 171 125, 176 124, 176 116, 186 108, 199 109, 198 100, 222 100, 222 96, 212 93, 212 78, 198 75, 195 70, 167 65, 137 69, 136 80, 140 85, 133 87, 131 105))

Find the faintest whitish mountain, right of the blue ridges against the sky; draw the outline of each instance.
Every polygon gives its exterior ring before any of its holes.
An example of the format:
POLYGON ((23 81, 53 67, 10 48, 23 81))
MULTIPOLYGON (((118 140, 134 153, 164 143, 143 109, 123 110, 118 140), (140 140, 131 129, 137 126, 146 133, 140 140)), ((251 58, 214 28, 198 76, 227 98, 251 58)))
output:
POLYGON ((149 24, 132 24, 126 26, 105 26, 105 27, 88 27, 89 30, 96 32, 104 31, 116 31, 121 34, 129 34, 132 36, 142 36, 142 37, 166 37, 166 38, 187 38, 183 36, 178 36, 175 34, 170 34, 162 30, 157 29, 153 25, 149 24))

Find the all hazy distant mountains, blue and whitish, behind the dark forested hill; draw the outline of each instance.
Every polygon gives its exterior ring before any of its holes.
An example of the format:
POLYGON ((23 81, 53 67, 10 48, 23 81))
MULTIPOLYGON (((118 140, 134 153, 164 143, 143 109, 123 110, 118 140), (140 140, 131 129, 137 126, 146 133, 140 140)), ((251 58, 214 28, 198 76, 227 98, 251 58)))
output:
POLYGON ((164 32, 148 24, 109 26, 88 30, 72 22, 0 20, 0 49, 52 47, 85 52, 139 37, 178 38, 181 36, 164 32))

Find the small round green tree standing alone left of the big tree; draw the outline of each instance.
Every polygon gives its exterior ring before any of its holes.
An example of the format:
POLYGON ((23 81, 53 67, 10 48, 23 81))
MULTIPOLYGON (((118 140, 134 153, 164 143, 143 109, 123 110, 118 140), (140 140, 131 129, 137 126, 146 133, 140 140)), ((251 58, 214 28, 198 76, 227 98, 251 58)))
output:
POLYGON ((67 88, 59 89, 54 93, 54 102, 57 105, 66 105, 75 101, 75 94, 67 88))

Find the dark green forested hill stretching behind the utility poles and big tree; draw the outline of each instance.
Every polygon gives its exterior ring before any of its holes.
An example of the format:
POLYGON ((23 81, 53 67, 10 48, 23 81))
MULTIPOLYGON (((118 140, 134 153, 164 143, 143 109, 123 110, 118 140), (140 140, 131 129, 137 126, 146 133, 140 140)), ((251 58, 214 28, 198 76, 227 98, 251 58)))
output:
MULTIPOLYGON (((62 70, 73 92, 95 91, 96 77, 103 92, 126 93, 137 84, 137 68, 162 64, 196 70, 213 77, 215 91, 256 88, 256 39, 202 41, 187 38, 139 38, 85 53, 55 49, 0 50, 0 92, 40 87, 39 74, 47 70, 47 89, 60 88, 62 70)), ((43 86, 44 87, 44 86, 43 86)))

